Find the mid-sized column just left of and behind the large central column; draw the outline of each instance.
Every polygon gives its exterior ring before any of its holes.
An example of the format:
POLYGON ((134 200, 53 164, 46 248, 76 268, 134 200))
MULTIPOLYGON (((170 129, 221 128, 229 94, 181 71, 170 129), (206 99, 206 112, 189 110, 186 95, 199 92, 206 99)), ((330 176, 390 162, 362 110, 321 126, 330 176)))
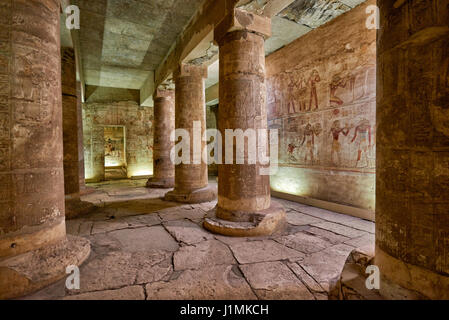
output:
POLYGON ((176 84, 175 127, 190 134, 190 163, 175 166, 175 189, 165 196, 168 201, 201 203, 216 198, 216 191, 209 187, 207 163, 202 161, 201 151, 206 147, 202 134, 206 130, 206 103, 204 79, 207 69, 202 66, 181 65, 174 74, 176 84), (194 122, 200 124, 201 135, 194 142, 194 122), (195 150, 194 144, 201 148, 195 150), (195 161, 195 158, 199 158, 195 161), (195 162, 197 162, 195 164, 195 162))

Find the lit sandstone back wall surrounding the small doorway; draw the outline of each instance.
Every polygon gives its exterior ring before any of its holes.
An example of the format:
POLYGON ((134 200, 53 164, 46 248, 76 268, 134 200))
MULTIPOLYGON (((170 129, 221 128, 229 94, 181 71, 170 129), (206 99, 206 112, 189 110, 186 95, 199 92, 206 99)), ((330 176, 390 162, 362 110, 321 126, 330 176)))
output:
POLYGON ((125 127, 128 177, 153 173, 153 109, 135 101, 91 102, 83 105, 86 179, 104 179, 104 128, 125 127))

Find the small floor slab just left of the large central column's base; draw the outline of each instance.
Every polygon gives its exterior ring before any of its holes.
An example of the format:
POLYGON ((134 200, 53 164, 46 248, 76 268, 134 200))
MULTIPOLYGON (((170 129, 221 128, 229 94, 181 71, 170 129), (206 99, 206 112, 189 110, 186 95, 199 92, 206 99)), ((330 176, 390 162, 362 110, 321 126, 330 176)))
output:
POLYGON ((186 244, 195 244, 214 238, 211 233, 204 231, 199 225, 187 220, 169 221, 164 223, 164 227, 176 241, 186 244))

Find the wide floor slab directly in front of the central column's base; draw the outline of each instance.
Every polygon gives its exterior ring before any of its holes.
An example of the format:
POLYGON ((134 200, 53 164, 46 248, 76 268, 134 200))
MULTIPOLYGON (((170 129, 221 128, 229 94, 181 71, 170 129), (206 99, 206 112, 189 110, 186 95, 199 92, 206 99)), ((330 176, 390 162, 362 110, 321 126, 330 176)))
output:
POLYGON ((300 260, 304 254, 287 248, 273 240, 246 241, 230 245, 235 258, 241 264, 276 260, 300 260))

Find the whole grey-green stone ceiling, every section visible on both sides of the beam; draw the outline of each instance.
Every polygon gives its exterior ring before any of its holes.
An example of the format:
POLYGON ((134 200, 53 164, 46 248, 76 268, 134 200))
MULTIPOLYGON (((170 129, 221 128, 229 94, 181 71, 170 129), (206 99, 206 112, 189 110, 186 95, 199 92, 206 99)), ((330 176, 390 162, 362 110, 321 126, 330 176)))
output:
MULTIPOLYGON (((272 1, 287 6, 272 17, 266 54, 289 44, 365 0, 242 0, 263 12, 272 1)), ((141 89, 204 0, 73 0, 81 10, 80 52, 87 85, 141 89)), ((215 53, 215 52, 213 52, 215 53)), ((218 81, 218 63, 206 87, 218 81)))

